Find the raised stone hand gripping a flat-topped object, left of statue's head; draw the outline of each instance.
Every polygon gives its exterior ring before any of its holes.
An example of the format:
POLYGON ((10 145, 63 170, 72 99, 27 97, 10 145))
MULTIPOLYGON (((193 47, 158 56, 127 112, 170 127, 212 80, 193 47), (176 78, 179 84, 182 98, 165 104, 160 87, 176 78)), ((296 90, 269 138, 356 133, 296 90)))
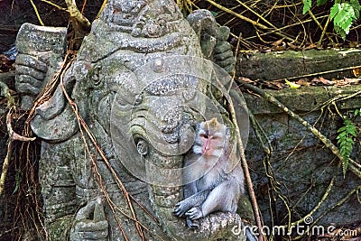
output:
POLYGON ((32 107, 34 97, 60 69, 67 48, 67 28, 24 23, 16 38, 15 88, 22 94, 21 107, 32 107))

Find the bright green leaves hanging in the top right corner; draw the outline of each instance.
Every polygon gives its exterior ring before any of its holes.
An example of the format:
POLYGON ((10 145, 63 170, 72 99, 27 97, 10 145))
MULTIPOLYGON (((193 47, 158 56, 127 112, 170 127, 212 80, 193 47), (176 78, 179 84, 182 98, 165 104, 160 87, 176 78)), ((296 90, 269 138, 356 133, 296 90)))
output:
MULTIPOLYGON (((325 5, 327 0, 317 0, 317 5, 325 5)), ((312 5, 312 0, 303 0, 303 14, 306 14, 312 5)), ((358 0, 335 0, 330 9, 330 19, 333 20, 334 29, 342 39, 350 31, 352 23, 360 17, 361 5, 358 0)))

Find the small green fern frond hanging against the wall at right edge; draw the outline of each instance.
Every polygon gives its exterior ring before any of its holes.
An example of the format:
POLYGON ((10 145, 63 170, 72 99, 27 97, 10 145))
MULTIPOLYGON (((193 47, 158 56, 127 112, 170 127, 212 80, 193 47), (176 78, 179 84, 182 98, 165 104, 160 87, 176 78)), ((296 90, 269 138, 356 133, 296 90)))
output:
POLYGON ((356 137, 356 135, 356 126, 347 116, 344 116, 344 126, 338 129, 338 137, 336 137, 339 144, 339 151, 343 157, 342 171, 344 176, 347 171, 348 160, 354 146, 354 137, 356 137))

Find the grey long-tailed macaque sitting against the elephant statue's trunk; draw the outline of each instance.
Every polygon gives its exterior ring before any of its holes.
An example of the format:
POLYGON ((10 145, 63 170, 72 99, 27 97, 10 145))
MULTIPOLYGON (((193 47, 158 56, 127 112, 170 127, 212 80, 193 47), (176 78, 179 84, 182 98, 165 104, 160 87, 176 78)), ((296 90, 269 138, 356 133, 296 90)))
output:
POLYGON ((174 214, 185 216, 188 227, 199 227, 199 218, 215 211, 236 213, 240 195, 245 191, 244 173, 231 143, 227 125, 217 118, 197 126, 192 152, 183 169, 184 198, 174 214))

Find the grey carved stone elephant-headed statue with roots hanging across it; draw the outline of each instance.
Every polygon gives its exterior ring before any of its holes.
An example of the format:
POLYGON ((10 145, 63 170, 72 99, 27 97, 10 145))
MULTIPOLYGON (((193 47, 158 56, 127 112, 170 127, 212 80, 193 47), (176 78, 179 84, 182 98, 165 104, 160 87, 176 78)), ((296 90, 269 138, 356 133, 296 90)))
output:
MULTIPOLYGON (((39 30, 23 25, 18 48, 32 29, 39 30)), ((227 119, 221 88, 210 87, 222 70, 208 60, 233 70, 228 34, 205 10, 186 21, 172 0, 108 1, 62 79, 82 120, 59 85, 31 122, 43 140, 39 175, 51 240, 245 240, 233 232, 243 227, 238 215, 211 214, 197 230, 172 215, 194 125, 202 117, 227 119)), ((19 92, 32 98, 59 69, 65 30, 55 35, 35 38, 54 40, 50 49, 19 48, 19 92)))

